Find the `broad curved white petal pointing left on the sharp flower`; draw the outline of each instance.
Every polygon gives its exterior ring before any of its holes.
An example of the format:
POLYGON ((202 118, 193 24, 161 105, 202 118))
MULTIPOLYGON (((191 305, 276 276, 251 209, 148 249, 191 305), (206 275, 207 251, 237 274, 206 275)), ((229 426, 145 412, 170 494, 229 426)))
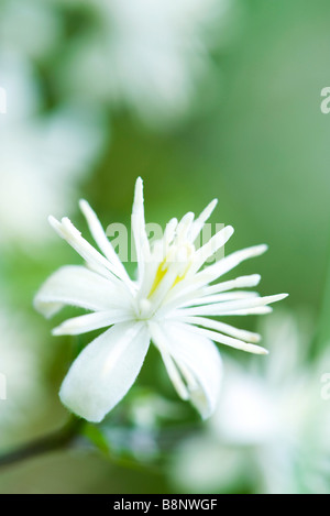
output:
POLYGON ((34 298, 36 310, 52 317, 64 305, 99 311, 111 308, 130 309, 128 294, 99 274, 79 265, 56 271, 34 298))

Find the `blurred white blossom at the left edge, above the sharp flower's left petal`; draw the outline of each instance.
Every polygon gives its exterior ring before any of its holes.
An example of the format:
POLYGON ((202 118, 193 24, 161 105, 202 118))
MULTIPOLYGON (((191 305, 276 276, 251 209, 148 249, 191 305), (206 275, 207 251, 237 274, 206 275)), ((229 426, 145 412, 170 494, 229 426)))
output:
POLYGON ((0 56, 7 113, 0 116, 0 241, 41 242, 52 210, 69 209, 75 188, 97 157, 102 123, 81 107, 42 114, 28 62, 0 56))

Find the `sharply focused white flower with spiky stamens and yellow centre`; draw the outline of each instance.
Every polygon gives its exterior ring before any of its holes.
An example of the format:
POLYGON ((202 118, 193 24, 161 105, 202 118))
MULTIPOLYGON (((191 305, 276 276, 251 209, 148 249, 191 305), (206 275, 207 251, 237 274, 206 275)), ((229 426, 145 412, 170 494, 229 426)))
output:
POLYGON ((35 307, 50 317, 63 305, 91 314, 67 320, 54 334, 78 334, 110 327, 79 354, 61 388, 62 402, 77 415, 100 421, 135 381, 150 341, 160 350, 168 375, 183 399, 204 418, 215 409, 221 380, 221 360, 213 341, 252 353, 266 353, 256 344, 260 336, 239 330, 209 316, 265 314, 270 303, 286 294, 258 297, 255 293, 229 290, 251 287, 258 275, 242 276, 210 286, 242 261, 257 256, 266 245, 238 251, 201 270, 207 259, 233 233, 228 226, 196 250, 194 242, 217 201, 195 220, 186 213, 172 219, 163 239, 147 240, 142 180, 135 185, 132 231, 138 256, 138 281, 132 281, 99 220, 82 200, 100 254, 64 218, 50 222, 86 261, 85 266, 65 266, 48 278, 35 298, 35 307), (202 328, 200 328, 202 327, 202 328))

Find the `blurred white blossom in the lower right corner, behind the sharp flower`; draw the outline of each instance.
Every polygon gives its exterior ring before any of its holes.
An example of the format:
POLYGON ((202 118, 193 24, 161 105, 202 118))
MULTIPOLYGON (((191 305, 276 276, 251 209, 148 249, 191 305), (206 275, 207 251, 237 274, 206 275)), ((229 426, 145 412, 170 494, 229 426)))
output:
POLYGON ((318 373, 327 362, 308 362, 309 332, 289 312, 274 315, 263 332, 267 362, 252 370, 227 363, 207 431, 178 450, 175 480, 190 491, 226 492, 244 479, 257 493, 330 492, 329 406, 318 373))

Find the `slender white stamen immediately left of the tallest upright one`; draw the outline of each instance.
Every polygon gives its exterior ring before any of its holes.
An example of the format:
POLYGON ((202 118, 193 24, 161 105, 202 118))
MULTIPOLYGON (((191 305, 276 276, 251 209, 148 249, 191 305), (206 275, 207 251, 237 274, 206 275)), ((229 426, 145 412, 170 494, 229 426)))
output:
POLYGON ((91 209, 90 205, 87 200, 81 199, 79 202, 80 209, 86 218, 88 223, 89 230, 95 239, 96 243, 98 244, 99 249, 102 251, 107 260, 113 265, 113 271, 124 282, 128 284, 131 283, 131 279, 121 263, 118 254, 116 253, 114 249, 112 248, 111 242, 109 241, 105 230, 96 215, 96 212, 91 209))

